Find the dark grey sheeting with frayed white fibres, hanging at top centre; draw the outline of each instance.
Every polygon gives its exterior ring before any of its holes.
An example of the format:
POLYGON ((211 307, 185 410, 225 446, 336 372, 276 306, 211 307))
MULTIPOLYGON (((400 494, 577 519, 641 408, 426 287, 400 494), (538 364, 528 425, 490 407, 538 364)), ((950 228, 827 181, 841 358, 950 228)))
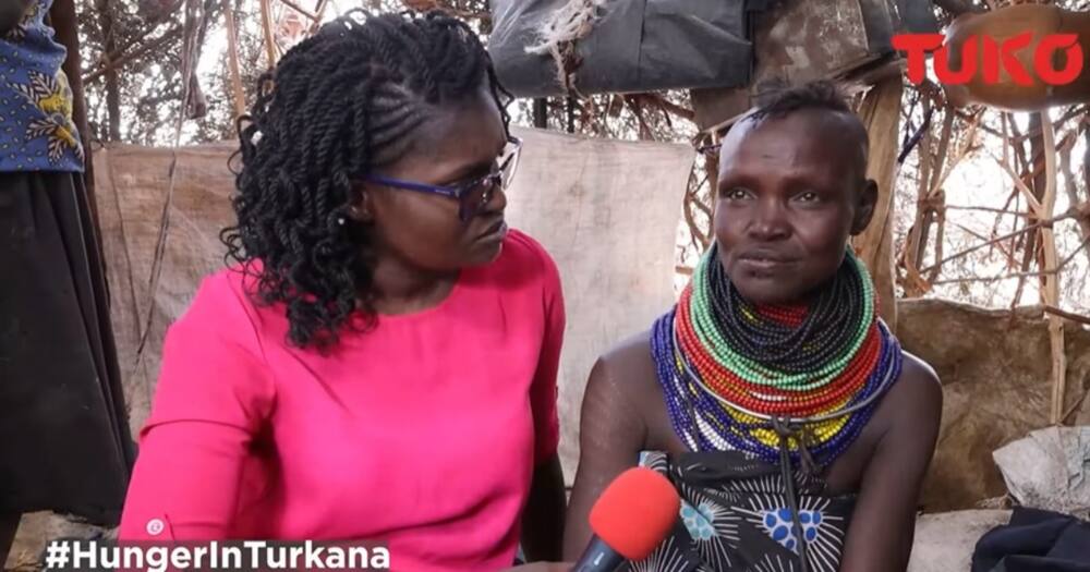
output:
MULTIPOLYGON (((565 94, 553 57, 526 53, 543 22, 568 0, 494 0, 488 50, 500 81, 520 97, 565 94)), ((577 42, 582 94, 738 87, 749 82, 748 7, 764 1, 607 1, 577 42)))

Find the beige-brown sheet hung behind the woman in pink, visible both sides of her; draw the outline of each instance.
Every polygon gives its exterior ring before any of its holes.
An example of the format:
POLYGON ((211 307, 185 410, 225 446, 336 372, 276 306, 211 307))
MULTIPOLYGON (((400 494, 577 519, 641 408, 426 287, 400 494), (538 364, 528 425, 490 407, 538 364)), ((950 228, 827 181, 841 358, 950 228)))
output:
MULTIPOLYGON (((562 276, 568 327, 560 367, 561 454, 569 483, 578 414, 598 354, 651 326, 674 300, 674 248, 694 151, 687 145, 590 139, 514 129, 525 141, 508 219, 552 253, 562 276)), ((220 229, 232 223, 235 144, 185 147, 178 163, 168 240, 150 282, 172 153, 113 146, 95 153, 112 316, 134 430, 147 417, 166 327, 202 277, 222 267, 220 229), (138 368, 140 331, 152 328, 138 368)))

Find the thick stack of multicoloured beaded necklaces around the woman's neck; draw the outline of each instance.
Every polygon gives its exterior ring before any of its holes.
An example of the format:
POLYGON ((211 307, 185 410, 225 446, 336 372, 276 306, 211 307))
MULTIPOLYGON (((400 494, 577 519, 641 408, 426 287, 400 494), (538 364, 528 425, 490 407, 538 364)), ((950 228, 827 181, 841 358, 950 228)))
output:
POLYGON ((875 297, 849 250, 809 305, 755 306, 713 246, 652 329, 675 431, 694 451, 741 450, 776 463, 786 449, 792 462, 826 466, 900 375, 900 345, 875 297))

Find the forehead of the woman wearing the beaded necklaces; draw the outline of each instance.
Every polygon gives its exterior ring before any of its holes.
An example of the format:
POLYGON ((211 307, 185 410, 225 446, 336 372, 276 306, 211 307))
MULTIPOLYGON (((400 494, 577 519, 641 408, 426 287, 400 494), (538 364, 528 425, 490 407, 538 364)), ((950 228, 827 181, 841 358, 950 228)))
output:
POLYGON ((865 131, 852 115, 801 110, 783 118, 742 120, 723 139, 722 175, 792 174, 828 182, 863 178, 865 131))

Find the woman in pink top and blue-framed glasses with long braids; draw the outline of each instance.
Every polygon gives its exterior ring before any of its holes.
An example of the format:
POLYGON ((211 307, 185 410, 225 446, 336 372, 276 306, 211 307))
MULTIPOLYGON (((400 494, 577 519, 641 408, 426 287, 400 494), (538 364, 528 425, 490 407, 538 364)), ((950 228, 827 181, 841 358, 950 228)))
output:
POLYGON ((167 334, 120 537, 375 540, 413 572, 558 560, 564 299, 504 222, 520 142, 477 36, 354 12, 259 92, 234 264, 167 334))

